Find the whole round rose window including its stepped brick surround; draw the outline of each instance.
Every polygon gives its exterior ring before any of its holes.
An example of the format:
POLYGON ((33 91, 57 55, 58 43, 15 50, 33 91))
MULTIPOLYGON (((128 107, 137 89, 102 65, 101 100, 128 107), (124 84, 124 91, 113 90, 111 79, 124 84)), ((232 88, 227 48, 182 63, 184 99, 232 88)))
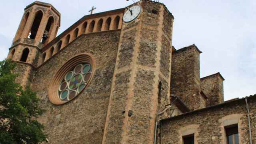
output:
POLYGON ((90 83, 93 75, 92 59, 79 55, 70 59, 54 76, 49 87, 49 100, 64 104, 78 96, 90 83))

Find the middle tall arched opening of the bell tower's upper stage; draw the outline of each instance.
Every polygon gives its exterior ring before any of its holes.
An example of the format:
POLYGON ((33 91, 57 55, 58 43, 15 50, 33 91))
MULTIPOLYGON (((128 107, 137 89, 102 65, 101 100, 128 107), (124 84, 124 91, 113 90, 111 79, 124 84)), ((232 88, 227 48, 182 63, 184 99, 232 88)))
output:
POLYGON ((43 12, 41 10, 36 12, 36 16, 34 18, 34 22, 33 22, 32 26, 31 26, 31 29, 30 29, 29 38, 31 38, 31 39, 35 39, 36 38, 36 33, 37 33, 38 28, 40 26, 42 17, 43 17, 43 12))

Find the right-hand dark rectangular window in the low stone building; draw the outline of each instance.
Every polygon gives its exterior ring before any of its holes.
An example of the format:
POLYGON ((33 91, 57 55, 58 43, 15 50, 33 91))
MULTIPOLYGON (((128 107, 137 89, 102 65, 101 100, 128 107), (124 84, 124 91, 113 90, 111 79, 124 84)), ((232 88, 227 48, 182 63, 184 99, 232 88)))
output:
POLYGON ((225 127, 227 144, 239 144, 238 124, 225 127))

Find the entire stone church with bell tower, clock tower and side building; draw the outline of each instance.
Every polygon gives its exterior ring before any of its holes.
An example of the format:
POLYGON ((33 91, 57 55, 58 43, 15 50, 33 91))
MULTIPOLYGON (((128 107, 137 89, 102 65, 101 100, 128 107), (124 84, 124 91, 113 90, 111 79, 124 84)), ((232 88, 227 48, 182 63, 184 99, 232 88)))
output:
POLYGON ((172 46, 159 2, 82 17, 24 9, 8 58, 37 91, 50 144, 256 144, 256 95, 224 102, 220 73, 200 78, 196 45, 172 46))

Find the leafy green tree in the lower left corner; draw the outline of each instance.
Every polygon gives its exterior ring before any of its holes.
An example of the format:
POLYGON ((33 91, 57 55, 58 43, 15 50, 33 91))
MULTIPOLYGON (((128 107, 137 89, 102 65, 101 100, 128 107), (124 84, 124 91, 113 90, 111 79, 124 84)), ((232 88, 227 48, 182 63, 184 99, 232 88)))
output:
POLYGON ((14 67, 10 60, 0 61, 0 144, 37 144, 46 140, 44 126, 35 119, 44 110, 35 92, 15 82, 14 67))

